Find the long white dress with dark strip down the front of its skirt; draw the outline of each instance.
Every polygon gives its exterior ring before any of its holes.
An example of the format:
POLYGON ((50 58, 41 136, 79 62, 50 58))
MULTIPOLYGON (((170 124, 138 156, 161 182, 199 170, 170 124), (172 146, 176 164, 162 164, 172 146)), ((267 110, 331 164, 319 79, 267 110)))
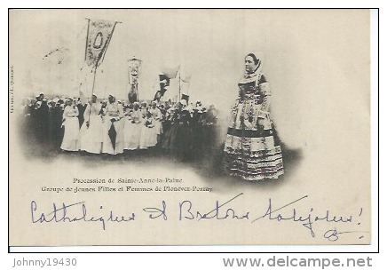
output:
POLYGON ((103 136, 102 136, 102 153, 116 155, 123 152, 123 109, 117 102, 107 103, 103 118, 103 136), (113 147, 112 140, 109 137, 109 130, 112 125, 112 119, 116 132, 115 147, 113 147))

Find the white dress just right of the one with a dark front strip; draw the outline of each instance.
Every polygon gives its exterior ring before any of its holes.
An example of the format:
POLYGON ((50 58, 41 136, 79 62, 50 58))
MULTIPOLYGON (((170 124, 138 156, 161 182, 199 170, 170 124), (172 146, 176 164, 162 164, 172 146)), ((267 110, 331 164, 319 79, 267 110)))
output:
POLYGON ((139 139, 141 136, 142 114, 140 110, 133 111, 130 116, 125 117, 124 127, 124 149, 136 150, 139 148, 139 139))

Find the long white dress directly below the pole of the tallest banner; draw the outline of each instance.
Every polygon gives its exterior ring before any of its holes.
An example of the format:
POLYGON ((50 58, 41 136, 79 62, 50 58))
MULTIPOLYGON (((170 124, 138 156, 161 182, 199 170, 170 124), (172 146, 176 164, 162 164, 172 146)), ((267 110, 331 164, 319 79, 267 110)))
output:
POLYGON ((88 104, 84 110, 84 122, 80 131, 81 150, 100 154, 102 151, 102 119, 99 115, 99 103, 88 104), (89 127, 87 127, 89 122, 89 127))

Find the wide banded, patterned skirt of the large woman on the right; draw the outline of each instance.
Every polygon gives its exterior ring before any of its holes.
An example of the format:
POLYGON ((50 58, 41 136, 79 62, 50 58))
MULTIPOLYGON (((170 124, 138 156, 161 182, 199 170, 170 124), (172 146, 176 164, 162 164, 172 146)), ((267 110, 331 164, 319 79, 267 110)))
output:
MULTIPOLYGON (((243 102, 233 112, 225 139, 225 170, 245 180, 278 179, 284 169, 276 131, 268 115, 262 119, 265 124, 257 124, 256 115, 250 118, 243 115, 250 106, 243 102), (250 124, 249 120, 256 124, 250 124)), ((259 107, 255 111, 259 111, 259 107)))

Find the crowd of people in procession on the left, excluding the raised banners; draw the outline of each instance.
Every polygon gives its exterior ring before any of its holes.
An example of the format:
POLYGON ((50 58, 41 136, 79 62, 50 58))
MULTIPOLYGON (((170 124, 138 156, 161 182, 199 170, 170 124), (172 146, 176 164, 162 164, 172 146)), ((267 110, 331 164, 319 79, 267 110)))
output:
POLYGON ((25 99, 22 134, 28 143, 61 152, 120 155, 157 148, 185 160, 201 155, 216 137, 217 109, 186 99, 148 104, 79 98, 25 99))

